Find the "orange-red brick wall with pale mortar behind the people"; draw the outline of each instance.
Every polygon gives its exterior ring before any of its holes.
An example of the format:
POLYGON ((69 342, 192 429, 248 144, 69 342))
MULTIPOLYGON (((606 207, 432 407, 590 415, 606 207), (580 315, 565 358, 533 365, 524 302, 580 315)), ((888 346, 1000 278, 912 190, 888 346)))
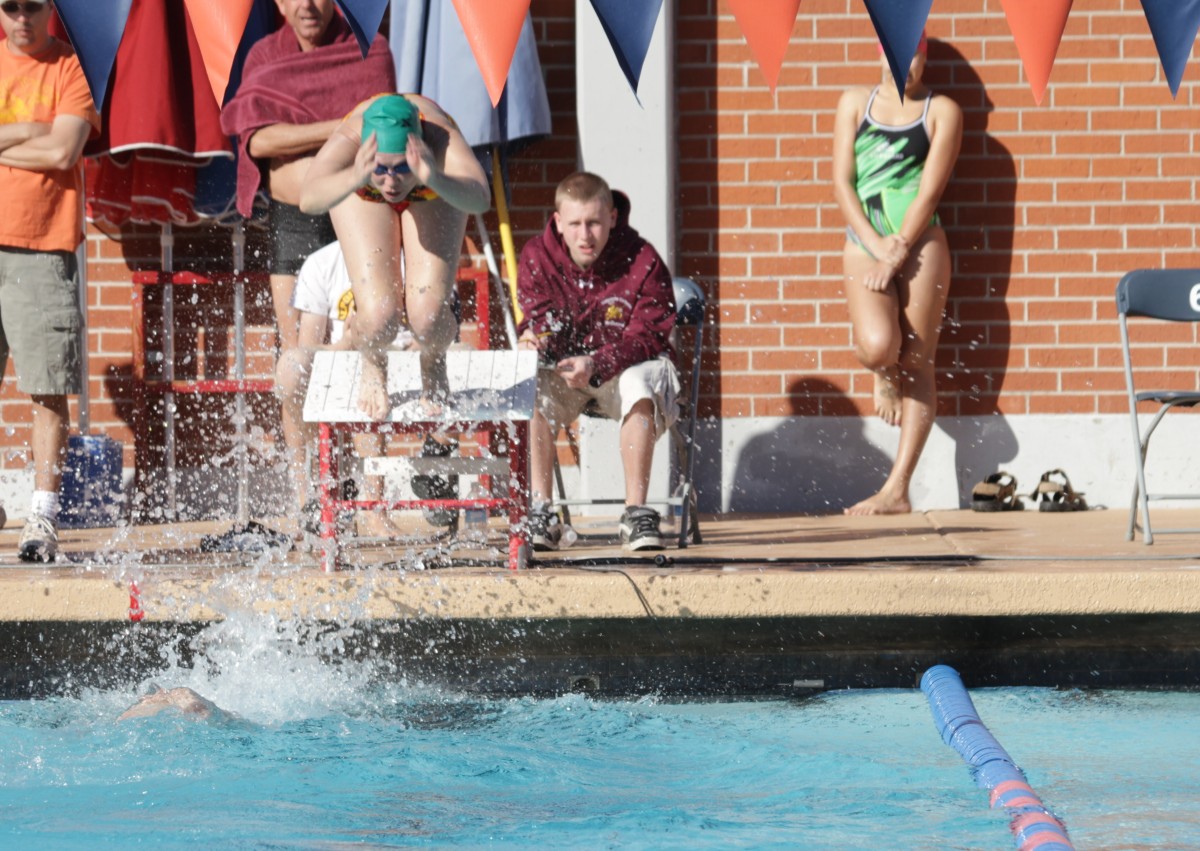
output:
MULTIPOLYGON (((871 383, 851 352, 844 224, 829 184, 838 97, 880 76, 866 13, 859 0, 805 0, 773 95, 725 4, 677 6, 677 271, 712 298, 703 408, 866 414, 871 383)), ((545 224, 553 186, 577 152, 575 2, 533 0, 532 12, 553 136, 510 163, 518 247, 545 224)), ((1040 107, 1000 0, 940 0, 929 32, 928 79, 965 112, 941 208, 955 269, 938 355, 941 414, 1123 410, 1117 278, 1138 266, 1200 266, 1200 71, 1189 67, 1172 101, 1138 0, 1076 5, 1040 107)), ((498 250, 494 212, 487 222, 498 250)), ((127 465, 130 280, 157 268, 157 233, 89 236, 91 421, 126 443, 127 465)), ((176 234, 178 268, 228 265, 227 232, 176 234)), ((252 265, 256 256, 252 239, 252 265)), ((268 336, 252 341, 266 352, 268 336)), ((1200 367, 1196 342, 1193 329, 1178 329, 1142 356, 1187 385, 1200 367)), ((252 370, 268 362, 252 360, 252 370)), ((260 424, 269 432, 271 415, 268 406, 260 424)), ((25 465, 28 421, 10 366, 0 466, 25 465)), ((211 449, 212 433, 199 432, 198 448, 211 449)))

